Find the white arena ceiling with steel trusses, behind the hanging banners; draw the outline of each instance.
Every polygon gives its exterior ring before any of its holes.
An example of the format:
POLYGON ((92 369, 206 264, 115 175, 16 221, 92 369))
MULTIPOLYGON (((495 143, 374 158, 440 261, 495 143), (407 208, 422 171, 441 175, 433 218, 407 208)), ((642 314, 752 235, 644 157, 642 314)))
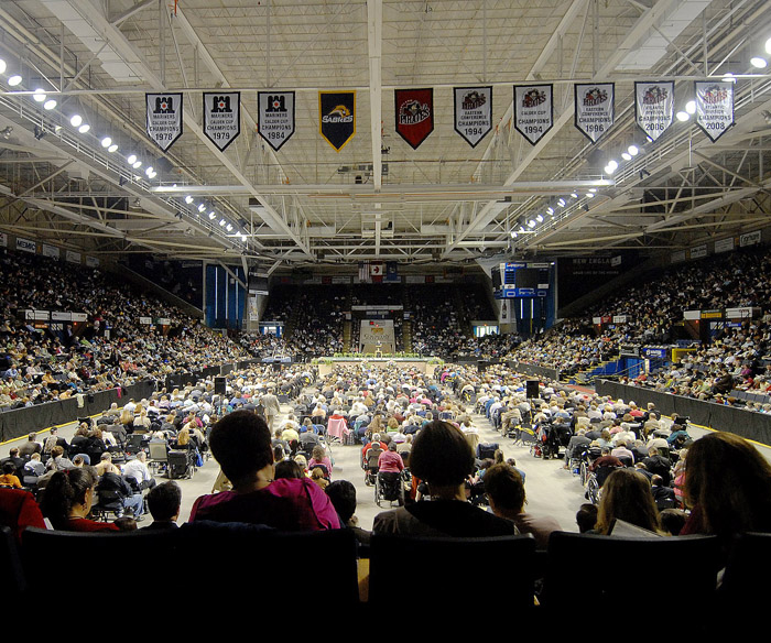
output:
POLYGON ((769 37, 763 0, 6 1, 0 230, 105 258, 271 272, 680 250, 771 220, 771 75, 749 62, 769 37), (17 69, 23 84, 8 86, 17 69), (636 80, 673 80, 680 108, 694 80, 728 72, 736 124, 717 142, 693 119, 644 141, 636 80), (512 122, 512 88, 528 81, 554 85, 554 127, 536 145, 512 122), (616 84, 616 123, 596 145, 573 124, 574 84, 588 81, 616 84), (493 87, 493 131, 476 148, 453 128, 453 87, 471 85, 493 87), (55 109, 31 100, 36 87, 55 109), (434 90, 435 127, 413 150, 394 131, 393 91, 420 87, 434 90), (241 92, 241 134, 225 152, 202 126, 202 92, 218 88, 241 92), (268 89, 296 96, 278 152, 257 133, 268 89), (144 94, 165 90, 185 107, 166 153, 144 132, 144 94), (319 90, 357 92, 339 152, 319 135, 319 90), (69 127, 74 112, 88 134, 69 127), (642 153, 606 175, 632 143, 642 153), (158 176, 132 171, 131 152, 158 176), (549 207, 553 218, 512 239, 549 207))

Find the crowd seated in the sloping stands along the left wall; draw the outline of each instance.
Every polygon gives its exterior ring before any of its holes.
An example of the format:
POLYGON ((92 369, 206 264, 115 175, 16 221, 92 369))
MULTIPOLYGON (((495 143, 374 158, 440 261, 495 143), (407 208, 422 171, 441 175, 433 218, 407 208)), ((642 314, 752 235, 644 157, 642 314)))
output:
POLYGON ((189 373, 248 357, 237 344, 156 297, 115 285, 98 270, 3 253, 0 271, 0 407, 18 408, 189 373), (11 276, 12 275, 12 276, 11 276), (24 309, 83 313, 61 333, 35 328, 24 309), (165 317, 160 326, 140 317, 165 317))

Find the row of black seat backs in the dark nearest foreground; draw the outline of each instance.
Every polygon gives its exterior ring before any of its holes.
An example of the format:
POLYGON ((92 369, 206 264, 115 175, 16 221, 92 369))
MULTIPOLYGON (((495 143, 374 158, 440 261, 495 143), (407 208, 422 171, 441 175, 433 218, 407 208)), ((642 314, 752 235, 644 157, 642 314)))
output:
POLYGON ((544 553, 536 552, 530 535, 427 538, 376 534, 368 559, 361 559, 348 530, 278 533, 254 525, 213 523, 109 534, 28 528, 21 547, 3 527, 0 544, 6 596, 37 591, 37 581, 50 573, 47 554, 66 552, 74 560, 131 560, 161 585, 204 591, 217 588, 234 607, 239 602, 249 606, 253 592, 240 595, 238 588, 253 589, 263 579, 270 581, 272 596, 294 596, 297 578, 307 575, 305 557, 275 556, 275 552, 314 551, 324 559, 324 595, 339 607, 359 606, 366 598, 378 608, 392 604, 408 591, 421 608, 474 599, 479 609, 506 607, 511 613, 528 613, 536 606, 565 613, 580 606, 590 614, 591 606, 609 604, 618 597, 631 601, 647 597, 661 610, 659 619, 680 615, 685 623, 705 614, 719 618, 719 611, 708 611, 713 606, 746 609, 753 604, 759 584, 771 571, 769 534, 738 538, 723 573, 725 552, 714 536, 620 538, 555 532, 544 553), (401 573, 394 570, 394 560, 401 573), (716 589, 719 573, 721 586, 716 589), (537 599, 536 579, 543 588, 537 599))

